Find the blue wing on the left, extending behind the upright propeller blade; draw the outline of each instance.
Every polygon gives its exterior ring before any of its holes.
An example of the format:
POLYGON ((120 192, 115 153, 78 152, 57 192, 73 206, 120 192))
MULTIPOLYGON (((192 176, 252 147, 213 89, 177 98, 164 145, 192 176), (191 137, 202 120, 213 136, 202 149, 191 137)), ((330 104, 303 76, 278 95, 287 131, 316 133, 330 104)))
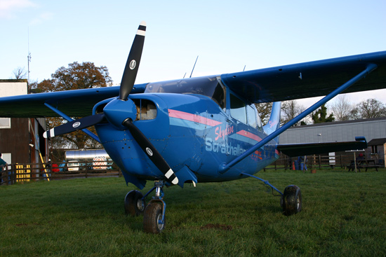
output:
MULTIPOLYGON (((133 93, 143 92, 146 85, 147 83, 135 85, 133 93)), ((91 115, 93 106, 98 102, 118 95, 119 87, 114 86, 1 97, 0 117, 58 117, 57 113, 44 104, 50 104, 67 116, 84 117, 91 115)))

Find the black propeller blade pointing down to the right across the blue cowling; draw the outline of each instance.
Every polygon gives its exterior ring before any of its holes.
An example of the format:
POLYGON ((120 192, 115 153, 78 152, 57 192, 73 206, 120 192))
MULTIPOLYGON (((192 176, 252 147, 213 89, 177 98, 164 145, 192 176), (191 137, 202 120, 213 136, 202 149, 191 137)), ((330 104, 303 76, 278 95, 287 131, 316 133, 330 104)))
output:
POLYGON ((145 137, 138 127, 133 124, 131 118, 127 118, 122 123, 133 135, 135 141, 140 145, 140 148, 147 154, 147 156, 152 160, 154 165, 166 176, 168 181, 171 181, 174 185, 178 183, 178 178, 175 176, 173 169, 168 165, 166 160, 162 157, 161 153, 153 146, 153 144, 145 137))

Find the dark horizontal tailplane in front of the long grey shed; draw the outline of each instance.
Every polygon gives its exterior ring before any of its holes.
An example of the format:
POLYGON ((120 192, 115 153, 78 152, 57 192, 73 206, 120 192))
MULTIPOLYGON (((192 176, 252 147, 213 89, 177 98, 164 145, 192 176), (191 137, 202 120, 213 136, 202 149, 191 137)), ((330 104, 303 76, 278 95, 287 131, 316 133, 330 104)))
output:
POLYGON ((279 144, 277 149, 289 157, 331 153, 339 151, 361 150, 367 148, 364 137, 355 137, 355 141, 306 143, 306 144, 279 144))

